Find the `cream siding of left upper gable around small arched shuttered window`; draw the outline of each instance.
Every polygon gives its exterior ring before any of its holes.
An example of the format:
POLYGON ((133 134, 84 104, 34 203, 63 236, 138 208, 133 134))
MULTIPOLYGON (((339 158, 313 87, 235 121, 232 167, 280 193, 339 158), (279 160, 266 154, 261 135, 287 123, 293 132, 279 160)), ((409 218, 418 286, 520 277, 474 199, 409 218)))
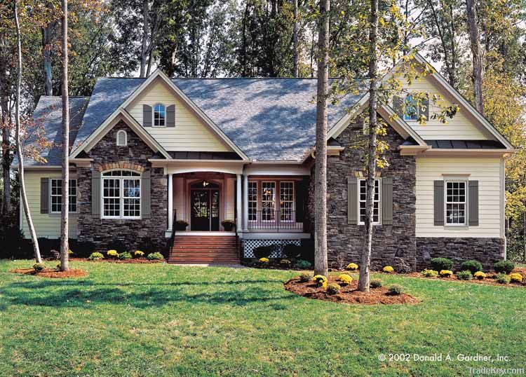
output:
POLYGON ((142 105, 175 104, 175 127, 145 128, 167 151, 231 151, 222 139, 177 97, 166 83, 157 80, 144 89, 126 110, 142 125, 142 105))

